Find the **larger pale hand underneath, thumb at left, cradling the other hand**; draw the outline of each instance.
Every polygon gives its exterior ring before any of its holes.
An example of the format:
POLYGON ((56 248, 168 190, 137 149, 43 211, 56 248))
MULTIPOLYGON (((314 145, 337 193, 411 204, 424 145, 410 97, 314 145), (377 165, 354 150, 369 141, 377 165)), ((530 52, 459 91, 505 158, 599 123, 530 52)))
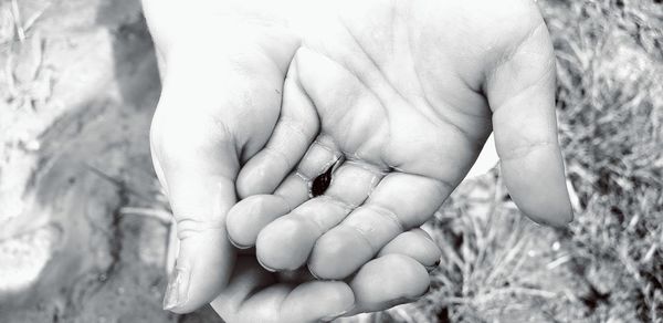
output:
POLYGON ((421 295, 440 257, 421 230, 399 235, 341 282, 274 274, 230 244, 225 215, 238 173, 272 135, 301 44, 269 6, 144 1, 162 76, 150 146, 180 242, 165 308, 185 313, 214 300, 229 322, 306 322, 421 295))

